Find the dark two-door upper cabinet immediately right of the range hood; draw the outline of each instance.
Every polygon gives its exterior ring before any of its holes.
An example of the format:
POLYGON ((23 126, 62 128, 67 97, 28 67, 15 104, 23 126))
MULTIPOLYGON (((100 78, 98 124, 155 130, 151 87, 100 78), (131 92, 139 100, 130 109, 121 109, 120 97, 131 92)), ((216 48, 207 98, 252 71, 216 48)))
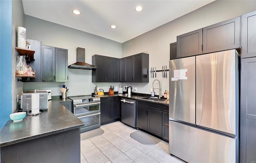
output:
POLYGON ((114 58, 102 55, 92 56, 92 82, 114 82, 114 58))

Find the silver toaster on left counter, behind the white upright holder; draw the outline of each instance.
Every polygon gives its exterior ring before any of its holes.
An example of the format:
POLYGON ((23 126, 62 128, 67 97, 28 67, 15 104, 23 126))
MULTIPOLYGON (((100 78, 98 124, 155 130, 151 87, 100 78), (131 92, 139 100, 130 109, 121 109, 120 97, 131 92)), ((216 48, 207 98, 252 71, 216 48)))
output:
MULTIPOLYGON (((32 106, 32 93, 34 93, 34 91, 27 91, 25 93, 22 93, 20 108, 23 112, 27 111, 27 104, 29 104, 29 106, 32 106)), ((48 92, 39 90, 36 91, 36 93, 39 93, 40 110, 48 110, 48 92)))

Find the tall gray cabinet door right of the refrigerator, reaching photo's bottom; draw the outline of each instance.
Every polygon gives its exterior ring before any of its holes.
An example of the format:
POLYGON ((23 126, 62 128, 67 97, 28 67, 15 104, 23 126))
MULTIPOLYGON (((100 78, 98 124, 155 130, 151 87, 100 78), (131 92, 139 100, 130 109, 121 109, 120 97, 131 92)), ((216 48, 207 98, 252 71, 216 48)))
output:
POLYGON ((240 162, 256 160, 256 57, 241 59, 240 162))

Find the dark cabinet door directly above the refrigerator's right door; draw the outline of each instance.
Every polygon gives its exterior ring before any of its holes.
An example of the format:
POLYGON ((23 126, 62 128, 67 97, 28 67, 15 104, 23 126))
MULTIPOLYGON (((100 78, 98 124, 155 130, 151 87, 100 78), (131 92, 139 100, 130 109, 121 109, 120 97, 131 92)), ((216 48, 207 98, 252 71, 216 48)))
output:
POLYGON ((240 17, 203 28, 203 53, 240 48, 240 17))

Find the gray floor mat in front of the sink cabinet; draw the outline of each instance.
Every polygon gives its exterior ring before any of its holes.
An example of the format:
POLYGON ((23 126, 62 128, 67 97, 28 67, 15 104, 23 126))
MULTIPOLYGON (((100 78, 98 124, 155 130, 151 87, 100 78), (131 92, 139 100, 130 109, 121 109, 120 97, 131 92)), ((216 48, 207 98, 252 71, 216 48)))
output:
POLYGON ((132 132, 130 134, 130 137, 132 137, 132 139, 134 139, 144 145, 155 145, 161 141, 161 139, 158 139, 158 138, 151 136, 150 134, 147 134, 140 130, 132 132))

